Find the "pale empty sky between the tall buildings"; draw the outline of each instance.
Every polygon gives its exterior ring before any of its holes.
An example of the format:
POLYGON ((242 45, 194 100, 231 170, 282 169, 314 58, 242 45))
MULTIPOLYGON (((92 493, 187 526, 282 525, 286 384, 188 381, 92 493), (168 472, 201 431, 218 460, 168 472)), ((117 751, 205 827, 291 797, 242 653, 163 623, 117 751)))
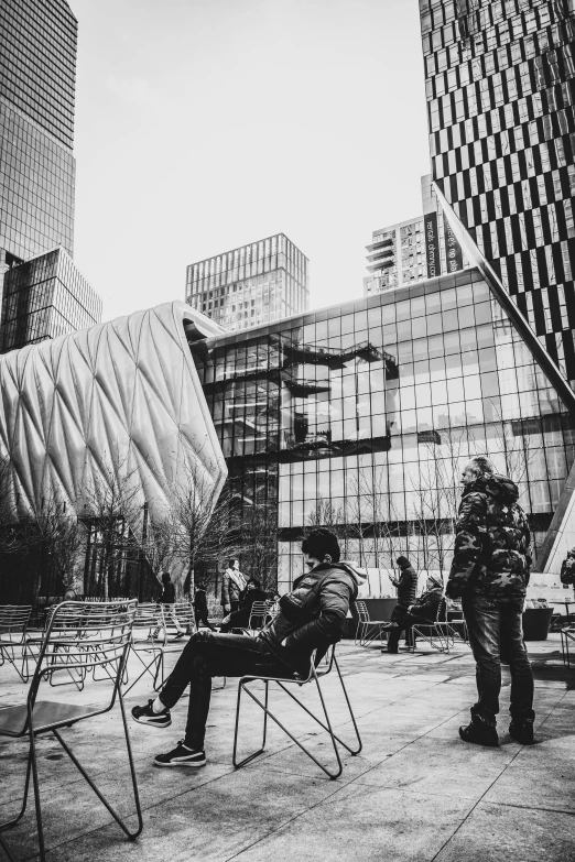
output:
POLYGON ((104 320, 284 232, 311 308, 361 295, 371 232, 430 170, 417 0, 68 0, 75 261, 104 320))

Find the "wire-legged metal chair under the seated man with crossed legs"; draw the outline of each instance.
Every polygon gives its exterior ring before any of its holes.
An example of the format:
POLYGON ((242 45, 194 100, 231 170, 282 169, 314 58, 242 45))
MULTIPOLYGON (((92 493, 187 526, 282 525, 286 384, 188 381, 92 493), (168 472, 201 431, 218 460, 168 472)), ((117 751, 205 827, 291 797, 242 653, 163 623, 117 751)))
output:
POLYGON ((357 723, 356 723, 356 718, 355 718, 354 711, 351 709, 351 703, 349 702, 349 697, 348 697, 348 694, 347 694, 347 689, 346 689, 345 684, 344 684, 344 678, 341 676, 341 672, 339 669, 339 665, 337 664, 337 659, 335 657, 335 645, 333 645, 330 647, 330 656, 329 656, 329 661, 328 661, 327 665, 323 666, 319 669, 318 665, 319 665, 319 662, 321 662, 322 657, 323 657, 323 655, 318 657, 317 651, 314 650, 314 652, 312 653, 312 657, 311 657, 310 673, 308 673, 307 677, 305 677, 305 678, 299 677, 297 674, 294 674, 291 678, 290 677, 276 678, 276 677, 250 676, 250 675, 241 677, 241 679, 239 680, 239 684, 238 684, 238 701, 237 701, 237 707, 236 707, 236 730, 235 730, 235 734, 234 734, 234 755, 232 755, 232 761, 234 761, 234 766, 236 768, 240 768, 240 766, 245 766, 247 763, 250 763, 252 760, 254 760, 256 757, 258 757, 260 754, 262 754, 265 751, 265 736, 267 736, 267 732, 268 732, 268 716, 271 718, 272 721, 275 722, 275 724, 278 724, 279 728, 281 728, 281 730, 283 730, 283 732, 288 736, 290 736, 290 739, 293 742, 295 742, 295 744, 304 752, 304 754, 306 754, 317 766, 319 766, 319 768, 332 779, 338 778, 341 775, 341 772, 344 770, 344 765, 341 763, 341 757, 340 757, 340 754, 339 754, 338 745, 341 745, 344 749, 346 749, 346 751, 348 751, 354 756, 356 754, 359 754, 359 752, 361 751, 361 748, 362 748, 362 743, 361 743, 361 739, 359 736, 359 730, 358 730, 358 727, 357 727, 357 723), (339 736, 337 736, 334 733, 334 730, 332 728, 332 721, 330 721, 329 714, 327 712, 327 706, 326 706, 326 702, 325 702, 325 699, 324 699, 324 694, 322 691, 322 687, 319 685, 319 679, 322 677, 327 676, 327 674, 329 674, 332 672, 333 667, 335 667, 336 670, 337 670, 337 675, 339 677, 339 683, 341 685, 341 689, 344 691, 344 696, 345 696, 345 699, 346 699, 347 708, 349 710, 349 716, 350 716, 351 722, 354 724, 354 730, 355 730, 356 739, 357 739, 357 742, 358 742, 358 748, 356 748, 356 749, 351 749, 346 742, 344 742, 341 739, 339 739, 339 736), (262 681, 264 684, 264 692, 265 694, 264 694, 263 702, 249 688, 250 683, 254 683, 254 681, 262 681), (335 756, 336 756, 336 761, 337 761, 337 770, 335 772, 332 772, 326 766, 324 766, 324 764, 322 764, 317 760, 317 757, 315 757, 314 754, 312 754, 312 752, 308 749, 306 749, 305 745, 303 745, 302 742, 300 742, 297 736, 294 736, 294 734, 291 733, 291 731, 288 730, 288 728, 280 721, 280 719, 276 716, 274 716, 274 713, 269 709, 269 695, 270 695, 269 688, 270 688, 270 683, 275 683, 278 688, 280 688, 282 691, 284 691, 286 695, 289 695, 289 697, 292 700, 294 700, 305 712, 307 712, 308 716, 311 716, 313 718, 313 720, 317 724, 319 724, 321 728, 323 728, 329 734, 329 739, 332 741, 332 745, 334 746, 334 752, 335 752, 335 756), (317 694, 319 696, 319 700, 322 702, 323 713, 324 713, 324 717, 325 717, 325 723, 324 723, 324 721, 322 721, 322 719, 317 718, 317 716, 315 716, 314 712, 312 712, 312 710, 308 709, 305 706, 305 703, 302 703, 302 701, 299 698, 296 698, 295 695, 293 695, 289 690, 289 688, 288 688, 288 686, 299 686, 300 688, 302 688, 303 686, 310 685, 310 684, 315 684, 315 687, 317 688, 317 694), (249 754, 243 760, 238 761, 238 756, 237 756, 237 753, 238 753, 238 733, 239 733, 239 719, 240 719, 240 707, 241 707, 241 694, 242 694, 242 691, 246 691, 246 694, 250 696, 250 698, 260 707, 260 709, 263 710, 263 738, 262 738, 261 748, 258 749, 258 751, 253 752, 252 754, 249 754))

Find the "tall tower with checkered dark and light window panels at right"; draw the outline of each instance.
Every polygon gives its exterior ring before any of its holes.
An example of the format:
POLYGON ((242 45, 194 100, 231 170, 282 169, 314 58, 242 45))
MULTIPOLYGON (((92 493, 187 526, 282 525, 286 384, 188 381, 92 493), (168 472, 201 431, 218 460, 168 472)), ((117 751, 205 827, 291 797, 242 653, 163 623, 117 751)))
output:
POLYGON ((575 385, 575 3, 420 10, 433 181, 575 385))

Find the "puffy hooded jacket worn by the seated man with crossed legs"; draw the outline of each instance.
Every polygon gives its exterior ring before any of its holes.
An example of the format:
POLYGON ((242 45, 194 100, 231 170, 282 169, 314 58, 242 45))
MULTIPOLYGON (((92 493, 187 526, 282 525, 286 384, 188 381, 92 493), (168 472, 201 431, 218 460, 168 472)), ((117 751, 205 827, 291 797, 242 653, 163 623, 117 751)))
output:
POLYGON ((325 654, 341 640, 349 603, 366 576, 349 563, 322 564, 294 581, 280 613, 260 635, 284 664, 306 673, 314 650, 325 654))

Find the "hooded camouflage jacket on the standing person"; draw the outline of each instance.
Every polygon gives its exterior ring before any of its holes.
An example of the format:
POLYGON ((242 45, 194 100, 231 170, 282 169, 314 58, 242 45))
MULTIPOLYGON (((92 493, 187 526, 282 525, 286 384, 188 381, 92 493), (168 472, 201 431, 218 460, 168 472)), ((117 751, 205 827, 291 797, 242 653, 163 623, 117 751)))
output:
POLYGON ((531 567, 531 533, 518 505, 518 487, 482 474, 464 490, 446 594, 523 599, 531 567))

